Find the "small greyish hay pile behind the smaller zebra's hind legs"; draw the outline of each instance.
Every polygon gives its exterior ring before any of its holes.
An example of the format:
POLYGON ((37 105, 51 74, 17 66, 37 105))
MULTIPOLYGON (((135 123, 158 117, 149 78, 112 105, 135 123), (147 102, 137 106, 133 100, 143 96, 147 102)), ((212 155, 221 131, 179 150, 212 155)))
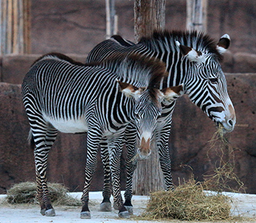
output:
MULTIPOLYGON (((81 206, 79 200, 67 195, 68 189, 61 184, 48 183, 50 201, 55 205, 81 206)), ((7 202, 15 203, 37 203, 37 184, 34 182, 23 182, 15 184, 7 191, 7 202)))

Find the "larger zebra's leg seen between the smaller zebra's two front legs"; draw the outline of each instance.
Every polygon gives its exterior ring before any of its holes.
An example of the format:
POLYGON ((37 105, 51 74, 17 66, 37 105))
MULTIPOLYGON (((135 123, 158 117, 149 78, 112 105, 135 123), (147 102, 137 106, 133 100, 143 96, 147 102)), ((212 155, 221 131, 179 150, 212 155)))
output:
POLYGON ((108 141, 105 139, 100 143, 101 157, 104 166, 104 187, 102 191, 103 200, 99 206, 99 211, 112 211, 111 208, 111 182, 110 182, 110 161, 108 154, 108 141))

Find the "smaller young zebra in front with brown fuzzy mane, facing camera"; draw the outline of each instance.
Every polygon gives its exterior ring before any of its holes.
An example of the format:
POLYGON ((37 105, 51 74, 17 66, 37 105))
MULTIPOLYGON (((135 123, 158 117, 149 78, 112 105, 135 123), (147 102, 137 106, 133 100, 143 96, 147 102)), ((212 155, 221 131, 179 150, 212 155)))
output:
MULTIPOLYGON (((135 120, 139 149, 151 146, 162 100, 175 100, 175 89, 159 90, 166 75, 165 63, 138 54, 83 64, 59 53, 36 60, 23 79, 22 96, 29 118, 37 178, 40 213, 55 216, 46 179, 48 152, 58 131, 87 132, 86 179, 81 218, 91 218, 88 207, 91 178, 97 163, 97 148, 108 143, 113 197, 118 216, 129 217, 120 192, 120 156, 125 128, 135 120)), ((149 154, 149 153, 148 153, 149 154)))

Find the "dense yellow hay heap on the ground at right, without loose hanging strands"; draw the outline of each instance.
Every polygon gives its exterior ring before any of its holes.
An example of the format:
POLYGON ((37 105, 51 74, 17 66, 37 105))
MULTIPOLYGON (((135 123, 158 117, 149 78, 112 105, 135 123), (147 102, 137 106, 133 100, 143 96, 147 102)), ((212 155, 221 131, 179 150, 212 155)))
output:
POLYGON ((230 208, 227 196, 220 193, 206 194, 202 184, 188 181, 173 191, 152 193, 143 217, 217 221, 230 219, 230 208))

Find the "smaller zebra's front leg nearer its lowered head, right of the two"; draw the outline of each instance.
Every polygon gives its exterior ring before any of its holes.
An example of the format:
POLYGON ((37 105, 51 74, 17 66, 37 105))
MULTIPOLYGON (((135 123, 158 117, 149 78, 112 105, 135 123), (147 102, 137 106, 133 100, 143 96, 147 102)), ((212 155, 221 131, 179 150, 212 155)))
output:
POLYGON ((118 206, 118 216, 121 218, 129 218, 129 212, 124 207, 123 199, 121 197, 121 184, 120 184, 120 160, 122 151, 122 136, 111 138, 109 143, 110 151, 110 169, 113 182, 113 198, 114 203, 118 206))

